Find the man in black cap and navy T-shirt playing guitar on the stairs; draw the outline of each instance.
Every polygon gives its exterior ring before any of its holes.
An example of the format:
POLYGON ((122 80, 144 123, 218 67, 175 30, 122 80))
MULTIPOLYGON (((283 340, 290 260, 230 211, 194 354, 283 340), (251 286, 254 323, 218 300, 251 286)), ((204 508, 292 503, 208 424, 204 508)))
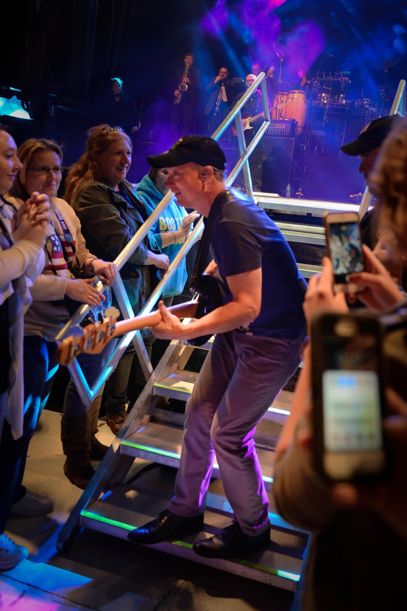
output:
POLYGON ((157 337, 216 337, 186 404, 175 497, 169 510, 129 538, 149 544, 200 532, 216 455, 235 521, 218 535, 196 541, 193 549, 207 557, 234 556, 270 543, 254 432, 299 365, 306 283, 265 211, 227 188, 226 158, 214 140, 185 136, 148 161, 167 174, 166 186, 180 205, 204 214, 201 244, 209 235, 213 260, 207 273, 218 279, 222 305, 181 324, 159 304, 163 320, 152 329, 157 337))

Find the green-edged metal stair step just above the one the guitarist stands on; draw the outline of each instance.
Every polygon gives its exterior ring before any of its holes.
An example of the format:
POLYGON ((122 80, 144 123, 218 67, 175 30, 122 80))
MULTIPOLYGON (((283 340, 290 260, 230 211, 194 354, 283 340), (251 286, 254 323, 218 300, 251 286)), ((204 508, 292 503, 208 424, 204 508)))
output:
MULTIPOLYGON (((153 463, 178 467, 182 448, 183 429, 178 426, 149 422, 137 433, 120 442, 120 453, 144 458, 153 463)), ((270 491, 274 475, 274 452, 256 444, 266 490, 270 491)), ((212 477, 221 478, 218 464, 213 464, 212 477)))

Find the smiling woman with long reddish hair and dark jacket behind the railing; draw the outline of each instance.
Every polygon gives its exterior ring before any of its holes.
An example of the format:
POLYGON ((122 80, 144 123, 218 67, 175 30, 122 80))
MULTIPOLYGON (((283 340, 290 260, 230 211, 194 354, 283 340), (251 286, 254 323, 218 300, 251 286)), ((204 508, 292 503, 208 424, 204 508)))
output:
MULTIPOLYGON (((65 198, 81 220, 86 243, 98 257, 114 261, 149 214, 126 180, 130 137, 120 128, 98 125, 88 132, 86 152, 67 177, 65 198)), ((149 250, 145 236, 120 271, 134 314, 150 292, 149 267, 167 269, 169 258, 149 250)), ((156 270, 155 270, 156 271, 156 270)), ((142 335, 148 336, 147 330, 142 335)), ((151 354, 151 345, 146 349, 151 354)), ((106 422, 116 434, 126 418, 127 386, 135 351, 131 343, 106 381, 106 422)))

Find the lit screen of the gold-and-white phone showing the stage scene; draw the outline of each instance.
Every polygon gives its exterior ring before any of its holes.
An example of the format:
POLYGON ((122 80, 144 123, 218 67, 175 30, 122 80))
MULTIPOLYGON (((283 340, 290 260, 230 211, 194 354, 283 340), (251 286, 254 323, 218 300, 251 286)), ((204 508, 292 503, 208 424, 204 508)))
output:
POLYGON ((329 223, 329 251, 335 284, 345 284, 349 274, 363 271, 362 243, 357 222, 329 223))

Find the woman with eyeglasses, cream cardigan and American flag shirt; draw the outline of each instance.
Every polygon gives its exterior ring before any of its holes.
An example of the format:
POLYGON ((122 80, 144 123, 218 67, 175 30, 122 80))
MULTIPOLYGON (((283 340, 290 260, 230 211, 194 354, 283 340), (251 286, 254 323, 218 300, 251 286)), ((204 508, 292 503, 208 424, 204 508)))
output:
MULTIPOLYGON (((31 288, 33 302, 24 318, 24 400, 27 414, 26 452, 35 425, 50 395, 58 365, 54 337, 81 304, 101 307, 106 297, 92 285, 94 276, 111 285, 116 277, 114 263, 90 254, 81 233, 81 224, 70 205, 57 197, 61 180, 62 150, 53 140, 29 139, 18 148, 21 167, 14 185, 16 197, 9 201, 16 208, 38 191, 51 200, 51 220, 46 227, 45 266, 31 288)), ((90 385, 111 354, 109 343, 97 357, 82 354, 79 365, 90 385)), ((90 458, 101 459, 107 447, 95 437, 101 393, 91 408, 81 401, 70 381, 64 400, 61 420, 62 447, 67 459, 64 472, 79 488, 85 488, 94 474, 90 458)), ((51 508, 51 501, 38 497, 21 485, 26 452, 21 458, 20 472, 13 503, 13 513, 36 515, 51 508)))

